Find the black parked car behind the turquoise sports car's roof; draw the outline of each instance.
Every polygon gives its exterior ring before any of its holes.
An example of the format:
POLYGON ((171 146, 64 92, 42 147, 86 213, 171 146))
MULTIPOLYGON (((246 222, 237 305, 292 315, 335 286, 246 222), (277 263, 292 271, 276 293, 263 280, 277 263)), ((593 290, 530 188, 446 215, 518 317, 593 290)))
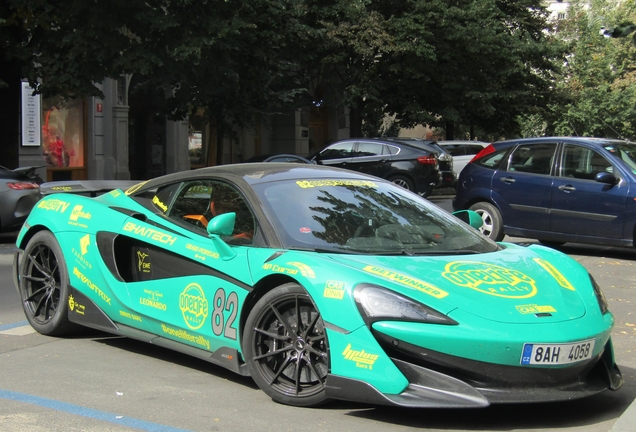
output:
POLYGON ((308 159, 318 165, 346 168, 387 179, 424 197, 441 182, 435 152, 403 141, 344 139, 308 159))

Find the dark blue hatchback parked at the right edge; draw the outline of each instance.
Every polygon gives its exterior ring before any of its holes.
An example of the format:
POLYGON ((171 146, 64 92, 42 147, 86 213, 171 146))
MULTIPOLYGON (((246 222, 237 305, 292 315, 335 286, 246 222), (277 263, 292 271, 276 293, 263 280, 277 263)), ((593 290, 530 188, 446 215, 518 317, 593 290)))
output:
POLYGON ((482 232, 634 246, 636 143, 544 137, 495 142, 459 176, 453 208, 481 214, 482 232))

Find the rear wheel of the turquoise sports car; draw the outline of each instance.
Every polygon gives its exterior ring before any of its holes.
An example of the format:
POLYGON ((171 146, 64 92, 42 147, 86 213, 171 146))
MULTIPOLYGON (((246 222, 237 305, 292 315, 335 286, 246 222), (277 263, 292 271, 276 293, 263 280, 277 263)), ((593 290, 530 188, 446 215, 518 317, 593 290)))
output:
POLYGON ((75 333, 80 327, 68 319, 68 271, 53 234, 40 231, 34 235, 18 266, 18 291, 31 326, 48 336, 75 333))

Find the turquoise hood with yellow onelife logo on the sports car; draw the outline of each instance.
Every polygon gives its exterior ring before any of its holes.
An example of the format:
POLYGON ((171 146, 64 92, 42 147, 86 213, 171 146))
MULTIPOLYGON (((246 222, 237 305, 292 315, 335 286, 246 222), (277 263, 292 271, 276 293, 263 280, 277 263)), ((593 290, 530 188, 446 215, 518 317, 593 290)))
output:
MULTIPOLYGON (((509 245, 462 256, 344 256, 362 280, 414 298, 444 314, 455 309, 502 323, 580 318, 593 288, 575 260, 543 247, 509 245), (370 278, 375 280, 371 281, 370 278), (538 319, 540 318, 540 320, 538 319)), ((591 296, 591 297, 590 297, 591 296)))

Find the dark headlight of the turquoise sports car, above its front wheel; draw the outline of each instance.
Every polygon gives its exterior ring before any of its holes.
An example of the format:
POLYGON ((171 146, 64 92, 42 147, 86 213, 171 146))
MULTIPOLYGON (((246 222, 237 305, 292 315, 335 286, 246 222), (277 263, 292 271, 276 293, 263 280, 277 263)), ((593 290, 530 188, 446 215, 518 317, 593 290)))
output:
POLYGON ((457 325, 457 321, 435 309, 386 288, 362 284, 355 288, 353 294, 367 325, 386 320, 457 325))

